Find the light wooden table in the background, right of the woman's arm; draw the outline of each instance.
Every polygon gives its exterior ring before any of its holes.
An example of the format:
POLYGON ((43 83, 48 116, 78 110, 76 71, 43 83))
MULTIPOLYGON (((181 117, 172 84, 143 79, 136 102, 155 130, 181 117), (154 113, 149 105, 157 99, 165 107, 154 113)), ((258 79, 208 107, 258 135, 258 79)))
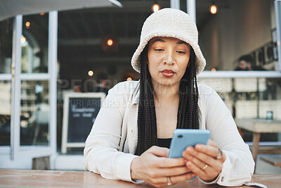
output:
POLYGON ((235 119, 238 128, 253 132, 253 158, 256 161, 259 151, 259 139, 261 133, 281 132, 281 120, 266 119, 235 119))

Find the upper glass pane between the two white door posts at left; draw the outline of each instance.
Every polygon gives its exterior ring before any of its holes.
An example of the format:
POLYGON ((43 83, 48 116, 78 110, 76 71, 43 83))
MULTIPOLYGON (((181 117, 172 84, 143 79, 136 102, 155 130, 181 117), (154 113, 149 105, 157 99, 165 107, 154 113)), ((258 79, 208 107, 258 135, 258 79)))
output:
POLYGON ((48 13, 22 17, 20 42, 22 73, 48 73, 48 13))

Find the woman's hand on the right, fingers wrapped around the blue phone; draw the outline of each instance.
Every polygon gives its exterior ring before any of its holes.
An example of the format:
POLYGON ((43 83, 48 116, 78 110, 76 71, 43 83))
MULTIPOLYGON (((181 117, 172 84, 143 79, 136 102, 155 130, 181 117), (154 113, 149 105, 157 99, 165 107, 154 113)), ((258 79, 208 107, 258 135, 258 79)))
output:
POLYGON ((211 139, 207 145, 188 146, 183 151, 183 157, 186 166, 201 180, 214 180, 221 173, 223 162, 226 161, 226 155, 218 149, 218 144, 211 139), (221 158, 218 157, 220 153, 222 153, 221 158))

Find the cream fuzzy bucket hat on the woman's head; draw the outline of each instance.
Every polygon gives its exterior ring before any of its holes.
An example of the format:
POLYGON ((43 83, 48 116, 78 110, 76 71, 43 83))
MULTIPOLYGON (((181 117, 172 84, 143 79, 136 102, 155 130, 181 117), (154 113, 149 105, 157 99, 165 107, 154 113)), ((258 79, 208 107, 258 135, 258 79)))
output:
POLYGON ((196 56, 196 75, 204 70, 206 60, 198 45, 197 27, 187 13, 174 8, 163 8, 145 20, 140 44, 131 59, 131 65, 138 73, 141 72, 141 52, 153 37, 174 37, 190 44, 196 56))

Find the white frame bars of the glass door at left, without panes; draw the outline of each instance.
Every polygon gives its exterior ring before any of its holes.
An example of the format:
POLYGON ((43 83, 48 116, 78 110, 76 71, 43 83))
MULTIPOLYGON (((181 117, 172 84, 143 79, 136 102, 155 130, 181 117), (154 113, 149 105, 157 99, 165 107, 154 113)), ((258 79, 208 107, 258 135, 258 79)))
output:
POLYGON ((22 15, 16 15, 13 28, 12 73, 0 74, 0 80, 11 81, 11 146, 0 146, 0 153, 10 153, 12 160, 51 156, 56 153, 57 47, 58 11, 49 12, 48 73, 21 73, 22 15), (46 80, 49 90, 48 146, 20 146, 20 83, 22 80, 46 80))

